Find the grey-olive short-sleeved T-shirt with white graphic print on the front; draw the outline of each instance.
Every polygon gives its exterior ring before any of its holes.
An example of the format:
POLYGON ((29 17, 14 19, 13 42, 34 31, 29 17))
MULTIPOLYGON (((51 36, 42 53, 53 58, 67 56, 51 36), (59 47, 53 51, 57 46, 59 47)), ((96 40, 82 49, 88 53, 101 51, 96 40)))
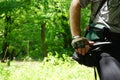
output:
POLYGON ((94 23, 105 24, 111 32, 120 33, 120 0, 106 0, 95 17, 102 0, 80 0, 81 7, 91 4, 91 19, 94 23))

